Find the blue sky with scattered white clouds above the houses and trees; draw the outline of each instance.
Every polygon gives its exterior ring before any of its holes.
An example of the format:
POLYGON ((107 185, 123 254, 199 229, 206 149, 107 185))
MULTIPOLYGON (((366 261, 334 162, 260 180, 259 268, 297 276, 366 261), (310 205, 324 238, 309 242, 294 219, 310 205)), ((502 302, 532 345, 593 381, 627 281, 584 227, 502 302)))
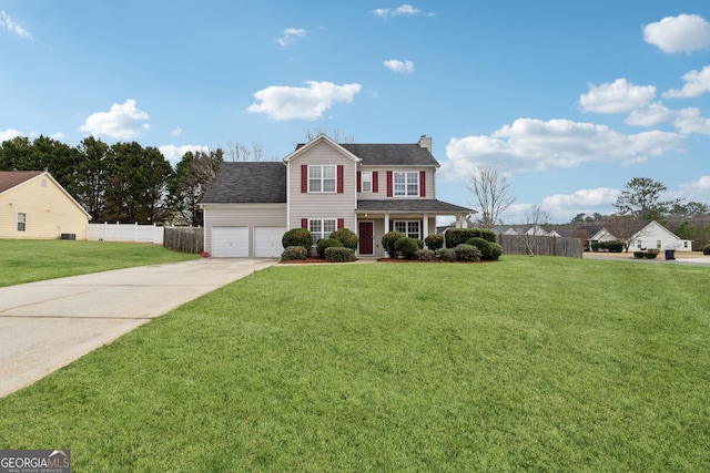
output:
POLYGON ((308 132, 433 137, 437 197, 495 164, 554 223, 632 177, 710 204, 710 2, 0 0, 0 141, 138 141, 175 162, 308 132))

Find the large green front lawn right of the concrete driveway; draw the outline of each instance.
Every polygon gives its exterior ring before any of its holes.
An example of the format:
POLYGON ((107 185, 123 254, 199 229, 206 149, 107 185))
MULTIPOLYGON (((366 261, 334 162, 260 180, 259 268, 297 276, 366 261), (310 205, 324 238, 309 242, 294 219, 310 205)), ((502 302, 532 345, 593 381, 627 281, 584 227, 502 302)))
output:
POLYGON ((709 471, 710 268, 278 266, 0 400, 75 471, 709 471))

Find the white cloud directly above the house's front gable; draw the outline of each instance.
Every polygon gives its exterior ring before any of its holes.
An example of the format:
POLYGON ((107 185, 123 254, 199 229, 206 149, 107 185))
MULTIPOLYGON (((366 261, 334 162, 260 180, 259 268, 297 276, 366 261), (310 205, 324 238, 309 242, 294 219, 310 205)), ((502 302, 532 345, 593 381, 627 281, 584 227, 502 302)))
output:
POLYGON ((359 84, 336 85, 332 82, 306 81, 307 88, 271 85, 254 93, 256 102, 250 112, 266 113, 274 120, 316 120, 334 103, 352 103, 359 84))

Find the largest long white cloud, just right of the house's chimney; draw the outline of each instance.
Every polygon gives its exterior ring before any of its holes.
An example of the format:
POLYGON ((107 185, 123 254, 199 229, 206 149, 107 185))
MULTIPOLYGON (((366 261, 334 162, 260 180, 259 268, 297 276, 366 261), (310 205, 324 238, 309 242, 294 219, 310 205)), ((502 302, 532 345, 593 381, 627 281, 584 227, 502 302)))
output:
POLYGON ((649 131, 625 135, 591 123, 519 119, 490 136, 452 138, 442 172, 455 179, 471 175, 479 164, 520 172, 568 168, 586 162, 626 162, 679 150, 682 141, 678 133, 649 131))

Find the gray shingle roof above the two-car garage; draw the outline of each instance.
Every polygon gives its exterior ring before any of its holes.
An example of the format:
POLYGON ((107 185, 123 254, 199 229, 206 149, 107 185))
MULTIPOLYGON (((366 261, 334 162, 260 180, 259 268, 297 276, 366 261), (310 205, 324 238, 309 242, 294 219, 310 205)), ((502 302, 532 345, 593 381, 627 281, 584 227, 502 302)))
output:
POLYGON ((286 202, 282 162, 222 163, 203 204, 281 204, 286 202))

